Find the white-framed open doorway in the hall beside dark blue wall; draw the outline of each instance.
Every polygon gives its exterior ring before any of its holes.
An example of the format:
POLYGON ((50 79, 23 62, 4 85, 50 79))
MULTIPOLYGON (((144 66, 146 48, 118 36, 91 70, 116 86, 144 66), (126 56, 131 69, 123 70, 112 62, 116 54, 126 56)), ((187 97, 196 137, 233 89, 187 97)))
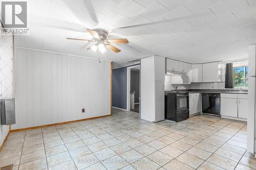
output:
POLYGON ((140 113, 140 65, 127 67, 127 110, 140 113))

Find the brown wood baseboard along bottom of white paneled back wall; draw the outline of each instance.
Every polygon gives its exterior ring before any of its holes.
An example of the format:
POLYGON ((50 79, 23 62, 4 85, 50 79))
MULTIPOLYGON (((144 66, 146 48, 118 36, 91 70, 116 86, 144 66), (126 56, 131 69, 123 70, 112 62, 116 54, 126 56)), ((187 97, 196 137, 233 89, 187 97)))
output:
POLYGON ((111 116, 111 114, 103 115, 103 116, 90 117, 90 118, 83 118, 83 119, 78 119, 78 120, 72 120, 72 121, 69 121, 69 122, 61 122, 61 123, 56 123, 56 124, 48 124, 48 125, 34 126, 34 127, 29 127, 29 128, 14 129, 14 130, 10 130, 9 133, 19 132, 19 131, 26 131, 26 130, 31 130, 31 129, 38 129, 38 128, 45 128, 45 127, 49 127, 49 126, 58 126, 58 125, 63 125, 63 124, 70 124, 70 123, 74 123, 74 122, 81 122, 81 121, 84 121, 84 120, 91 120, 91 119, 103 118, 103 117, 108 117, 108 116, 111 116))

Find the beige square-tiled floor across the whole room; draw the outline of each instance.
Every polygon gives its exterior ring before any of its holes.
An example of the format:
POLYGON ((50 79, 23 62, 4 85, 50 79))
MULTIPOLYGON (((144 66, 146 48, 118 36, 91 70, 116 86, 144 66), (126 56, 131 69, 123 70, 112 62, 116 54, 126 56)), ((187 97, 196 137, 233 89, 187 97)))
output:
POLYGON ((150 123, 135 112, 11 133, 0 166, 14 169, 256 169, 246 123, 197 115, 150 123))

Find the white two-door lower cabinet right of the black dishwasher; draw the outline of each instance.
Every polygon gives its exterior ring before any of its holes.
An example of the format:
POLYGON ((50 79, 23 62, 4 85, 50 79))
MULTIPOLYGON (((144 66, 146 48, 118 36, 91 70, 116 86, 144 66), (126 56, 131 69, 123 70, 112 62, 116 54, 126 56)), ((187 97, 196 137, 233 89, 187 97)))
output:
POLYGON ((247 119, 248 94, 221 93, 221 116, 247 119))

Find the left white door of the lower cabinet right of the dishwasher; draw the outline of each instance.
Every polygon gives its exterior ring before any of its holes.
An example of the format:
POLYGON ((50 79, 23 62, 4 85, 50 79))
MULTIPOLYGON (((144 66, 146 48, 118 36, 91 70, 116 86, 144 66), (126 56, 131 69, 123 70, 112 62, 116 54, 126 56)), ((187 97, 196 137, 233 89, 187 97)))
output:
POLYGON ((221 115, 238 117, 238 99, 221 98, 221 115))

